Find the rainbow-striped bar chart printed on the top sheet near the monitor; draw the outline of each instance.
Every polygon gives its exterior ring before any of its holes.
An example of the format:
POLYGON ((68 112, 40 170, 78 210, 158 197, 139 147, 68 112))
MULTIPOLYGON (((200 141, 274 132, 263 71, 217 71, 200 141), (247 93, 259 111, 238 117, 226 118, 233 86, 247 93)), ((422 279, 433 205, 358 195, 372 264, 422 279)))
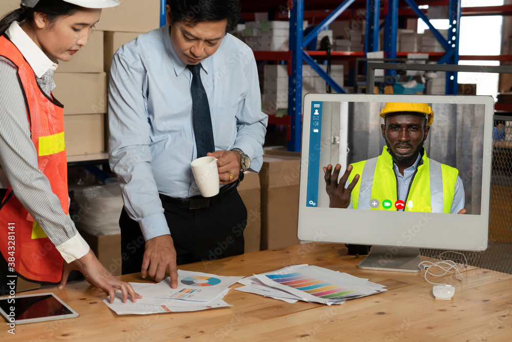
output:
POLYGON ((355 292, 355 290, 338 287, 326 283, 323 280, 315 279, 297 272, 290 274, 269 274, 267 277, 281 285, 286 285, 313 296, 331 300, 341 299, 345 295, 355 292))

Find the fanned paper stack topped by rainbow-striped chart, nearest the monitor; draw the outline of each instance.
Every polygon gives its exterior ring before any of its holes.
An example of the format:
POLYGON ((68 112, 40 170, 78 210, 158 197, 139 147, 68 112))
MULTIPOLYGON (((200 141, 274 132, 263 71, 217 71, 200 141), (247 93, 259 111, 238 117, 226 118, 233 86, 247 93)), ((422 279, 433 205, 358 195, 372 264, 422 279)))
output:
POLYGON ((368 279, 310 265, 254 274, 239 283, 245 286, 237 288, 238 291, 257 293, 288 303, 303 300, 326 305, 343 304, 347 299, 387 291, 385 286, 371 283, 368 279))

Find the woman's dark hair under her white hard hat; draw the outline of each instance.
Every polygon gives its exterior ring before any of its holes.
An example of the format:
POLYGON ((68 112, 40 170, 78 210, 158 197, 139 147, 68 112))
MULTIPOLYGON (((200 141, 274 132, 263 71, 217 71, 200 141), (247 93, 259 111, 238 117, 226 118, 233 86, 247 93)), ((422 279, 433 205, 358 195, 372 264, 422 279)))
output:
POLYGON ((33 22, 35 12, 45 13, 48 20, 54 23, 60 16, 73 15, 80 8, 62 0, 40 0, 34 8, 20 6, 0 20, 0 35, 3 35, 13 22, 33 22))

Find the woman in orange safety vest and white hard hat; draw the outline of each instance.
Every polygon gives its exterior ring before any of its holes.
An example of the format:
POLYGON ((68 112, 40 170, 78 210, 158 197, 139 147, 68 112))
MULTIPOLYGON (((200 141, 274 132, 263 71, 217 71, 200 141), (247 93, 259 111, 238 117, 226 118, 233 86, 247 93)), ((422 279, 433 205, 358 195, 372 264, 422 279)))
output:
MULTIPOLYGON (((19 276, 66 285, 80 271, 114 301, 140 298, 98 261, 68 215, 63 105, 53 96, 58 61, 87 44, 101 8, 117 0, 22 0, 0 21, 0 295, 19 276)), ((77 85, 79 86, 79 85, 77 85)))

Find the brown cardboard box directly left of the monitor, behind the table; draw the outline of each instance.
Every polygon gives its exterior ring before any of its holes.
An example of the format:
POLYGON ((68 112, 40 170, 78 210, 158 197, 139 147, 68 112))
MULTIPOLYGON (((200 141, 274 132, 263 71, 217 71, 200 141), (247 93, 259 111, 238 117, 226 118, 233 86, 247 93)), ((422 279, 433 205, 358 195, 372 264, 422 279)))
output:
POLYGON ((261 249, 297 245, 298 187, 301 159, 263 155, 261 249))

